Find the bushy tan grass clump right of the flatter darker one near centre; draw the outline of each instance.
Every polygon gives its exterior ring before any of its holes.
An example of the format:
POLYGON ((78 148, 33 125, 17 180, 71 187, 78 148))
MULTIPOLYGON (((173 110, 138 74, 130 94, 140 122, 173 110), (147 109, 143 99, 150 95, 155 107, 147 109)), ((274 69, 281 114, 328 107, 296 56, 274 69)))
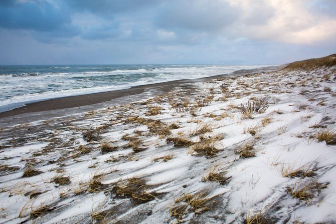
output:
POLYGON ((216 138, 201 138, 200 142, 196 142, 190 148, 189 153, 197 152, 199 155, 213 156, 216 155, 218 149, 215 147, 216 138))

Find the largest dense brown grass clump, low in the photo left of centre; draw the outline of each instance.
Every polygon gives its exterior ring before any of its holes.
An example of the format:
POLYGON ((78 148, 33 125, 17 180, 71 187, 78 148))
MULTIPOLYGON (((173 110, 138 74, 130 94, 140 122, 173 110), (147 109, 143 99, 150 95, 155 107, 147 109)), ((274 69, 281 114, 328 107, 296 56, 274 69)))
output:
POLYGON ((127 178, 126 181, 118 181, 113 187, 116 195, 123 195, 140 202, 155 199, 155 196, 147 191, 148 188, 149 186, 145 184, 145 180, 138 177, 127 178))

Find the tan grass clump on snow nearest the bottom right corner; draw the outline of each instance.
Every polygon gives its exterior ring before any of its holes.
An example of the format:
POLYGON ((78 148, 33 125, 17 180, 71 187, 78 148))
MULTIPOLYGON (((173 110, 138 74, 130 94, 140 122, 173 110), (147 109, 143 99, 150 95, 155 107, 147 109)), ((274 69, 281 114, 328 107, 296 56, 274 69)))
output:
POLYGON ((309 180, 306 183, 294 183, 293 187, 287 186, 286 191, 293 197, 309 202, 321 189, 327 187, 325 183, 319 183, 317 180, 309 180))

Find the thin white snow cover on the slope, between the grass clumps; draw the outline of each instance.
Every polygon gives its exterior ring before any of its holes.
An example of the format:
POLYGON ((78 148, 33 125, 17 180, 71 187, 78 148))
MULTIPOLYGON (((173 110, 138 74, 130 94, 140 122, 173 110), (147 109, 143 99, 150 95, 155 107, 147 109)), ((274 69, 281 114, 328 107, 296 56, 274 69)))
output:
MULTIPOLYGON (((113 210, 107 216, 112 223, 112 220, 173 223, 176 218, 170 215, 169 209, 177 204, 175 199, 186 193, 194 195, 199 192, 207 192, 206 197, 220 205, 196 216, 192 209, 189 210, 182 217, 187 223, 241 223, 248 213, 254 214, 259 210, 277 223, 292 223, 295 219, 304 223, 335 222, 336 147, 325 141, 318 142, 315 137, 322 129, 334 130, 336 127, 336 85, 332 77, 330 80, 321 79, 321 74, 325 73, 333 74, 334 70, 280 70, 192 83, 145 101, 97 109, 92 115, 73 114, 71 119, 65 116, 48 121, 53 124, 66 120, 68 126, 59 125, 52 129, 43 121, 34 122, 29 125, 38 127, 37 131, 23 136, 16 136, 14 131, 23 131, 24 126, 4 128, 0 143, 6 147, 1 148, 0 159, 2 164, 17 169, 0 173, 0 222, 90 223, 92 211, 113 210), (302 81, 306 82, 304 87, 302 81), (295 86, 290 87, 288 83, 295 86), (222 91, 222 84, 228 89, 222 91), (331 91, 323 91, 324 86, 329 86, 331 91), (303 95, 302 88, 306 90, 303 95), (213 96, 211 104, 197 111, 196 116, 177 113, 172 108, 174 102, 189 100, 192 103, 210 95, 213 96), (221 100, 224 96, 225 101, 221 100), (267 97, 269 107, 263 113, 252 114, 253 119, 242 119, 235 106, 251 97, 267 97), (317 105, 320 101, 325 105, 317 105), (298 109, 298 103, 307 106, 298 109), (158 115, 146 115, 151 106, 160 106, 163 110, 158 115), (223 113, 228 117, 216 119, 223 113), (189 147, 167 143, 167 136, 150 131, 148 124, 127 121, 132 116, 147 121, 160 120, 166 126, 178 124, 180 127, 171 130, 171 136, 182 136, 194 142, 201 141, 202 136, 191 136, 191 133, 204 124, 211 124, 213 130, 204 133, 203 137, 221 135, 222 139, 214 143, 218 152, 214 156, 191 154, 189 147), (265 117, 271 121, 262 125, 265 117), (101 130, 99 138, 94 141, 83 139, 82 133, 109 124, 109 119, 120 123, 101 130), (317 124, 321 127, 312 128, 317 124), (244 131, 254 126, 258 127, 255 135, 244 131), (121 139, 125 134, 139 140, 137 146, 145 150, 134 152, 127 146, 128 141, 121 139), (102 153, 102 141, 116 146, 117 150, 102 153), (254 143, 255 156, 242 158, 235 151, 247 142, 254 143), (76 155, 80 145, 85 145, 89 151, 76 155), (171 158, 163 161, 167 155, 171 158), (284 167, 295 170, 309 165, 315 169, 315 176, 282 176, 284 167), (24 168, 29 166, 42 173, 23 177, 24 168), (232 178, 224 184, 203 182, 202 176, 212 167, 232 178), (69 176, 70 184, 52 182, 57 175, 69 176), (88 192, 88 182, 95 175, 101 176, 105 188, 100 192, 88 192), (157 194, 155 199, 132 204, 129 202, 133 199, 115 195, 115 184, 132 177, 142 178, 146 190, 157 194), (286 190, 295 183, 311 180, 327 185, 315 192, 309 201, 297 199, 286 190), (85 190, 75 193, 79 188, 85 190), (33 192, 39 194, 33 195, 33 192), (62 192, 64 197, 61 197, 62 192), (40 217, 32 217, 29 213, 40 205, 52 209, 40 217), (152 213, 143 215, 148 210, 152 213), (19 217, 20 211, 22 217, 19 217), (138 219, 127 219, 134 215, 138 219)), ((97 220, 92 221, 96 223, 97 220)))

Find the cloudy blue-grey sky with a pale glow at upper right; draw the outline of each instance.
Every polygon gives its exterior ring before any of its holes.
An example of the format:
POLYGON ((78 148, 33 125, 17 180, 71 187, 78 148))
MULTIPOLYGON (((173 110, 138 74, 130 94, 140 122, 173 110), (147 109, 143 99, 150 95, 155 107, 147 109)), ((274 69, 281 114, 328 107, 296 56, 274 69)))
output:
POLYGON ((0 64, 284 64, 336 53, 335 0, 0 0, 0 64))

